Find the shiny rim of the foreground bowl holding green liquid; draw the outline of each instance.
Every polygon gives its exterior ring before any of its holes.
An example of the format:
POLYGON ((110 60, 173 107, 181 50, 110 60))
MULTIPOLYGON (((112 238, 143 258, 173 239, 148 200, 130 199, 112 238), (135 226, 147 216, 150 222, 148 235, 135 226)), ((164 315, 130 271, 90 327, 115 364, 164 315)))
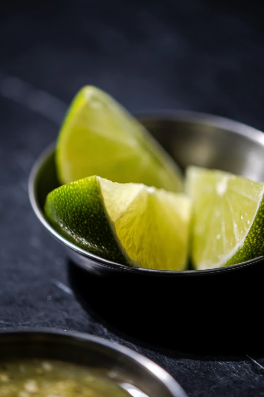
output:
MULTIPOLYGON (((112 350, 114 354, 116 352, 121 353, 122 356, 128 357, 136 362, 137 365, 144 368, 145 371, 149 371, 153 377, 158 379, 162 384, 166 386, 168 391, 171 393, 173 397, 187 397, 182 386, 174 379, 167 371, 165 371, 158 364, 154 363, 151 359, 145 357, 143 354, 140 354, 126 346, 120 345, 117 342, 111 342, 104 338, 100 338, 98 336, 93 336, 90 334, 85 334, 77 331, 63 331, 60 329, 54 328, 46 328, 39 327, 35 328, 21 328, 15 330, 0 330, 0 346, 2 337, 15 337, 15 336, 23 336, 23 335, 33 335, 33 336, 41 336, 41 335, 49 335, 49 336, 58 336, 62 337, 62 339, 69 341, 78 340, 82 343, 92 342, 93 344, 98 344, 105 347, 108 350, 112 350)), ((85 366, 85 365, 84 365, 85 366)))

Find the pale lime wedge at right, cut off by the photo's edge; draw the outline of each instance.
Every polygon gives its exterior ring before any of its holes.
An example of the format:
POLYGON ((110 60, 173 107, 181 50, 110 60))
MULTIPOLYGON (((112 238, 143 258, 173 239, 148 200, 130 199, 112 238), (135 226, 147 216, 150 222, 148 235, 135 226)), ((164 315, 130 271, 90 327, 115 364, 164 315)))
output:
POLYGON ((264 184, 228 172, 190 167, 192 263, 211 269, 264 254, 264 184))

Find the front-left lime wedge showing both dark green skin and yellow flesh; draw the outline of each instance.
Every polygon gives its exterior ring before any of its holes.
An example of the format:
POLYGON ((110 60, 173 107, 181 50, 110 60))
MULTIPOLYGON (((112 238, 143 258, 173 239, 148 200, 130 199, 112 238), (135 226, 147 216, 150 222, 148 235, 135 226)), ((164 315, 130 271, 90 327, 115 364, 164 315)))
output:
POLYGON ((190 198, 90 176, 52 191, 45 213, 53 227, 102 258, 137 267, 187 265, 190 198))

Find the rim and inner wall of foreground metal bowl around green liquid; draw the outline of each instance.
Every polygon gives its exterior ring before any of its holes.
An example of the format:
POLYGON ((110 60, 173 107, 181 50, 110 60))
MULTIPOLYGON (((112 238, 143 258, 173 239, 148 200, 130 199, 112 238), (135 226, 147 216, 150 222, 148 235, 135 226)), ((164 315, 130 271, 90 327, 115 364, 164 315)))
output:
POLYGON ((148 358, 90 335, 50 329, 0 332, 0 361, 26 358, 63 360, 99 369, 106 376, 112 374, 133 396, 187 397, 181 386, 148 358))

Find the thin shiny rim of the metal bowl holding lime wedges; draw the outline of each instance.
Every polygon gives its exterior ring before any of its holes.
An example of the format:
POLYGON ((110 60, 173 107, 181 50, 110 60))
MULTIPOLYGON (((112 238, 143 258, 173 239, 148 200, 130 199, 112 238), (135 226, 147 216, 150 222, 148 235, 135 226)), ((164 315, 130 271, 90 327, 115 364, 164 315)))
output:
MULTIPOLYGON (((135 115, 140 120, 153 120, 153 121, 180 121, 186 123, 201 123, 205 125, 210 125, 214 128, 221 128, 230 131, 237 135, 242 135, 248 140, 251 140, 264 148, 264 133, 246 124, 225 118, 214 116, 211 114, 192 112, 192 111, 147 111, 140 112, 135 115)), ((122 265, 117 262, 109 261, 107 259, 101 258, 97 255, 91 254, 77 245, 71 243, 66 238, 61 236, 46 220, 45 215, 38 203, 36 194, 36 180, 38 172, 45 160, 51 156, 55 151, 55 142, 52 142, 42 153, 37 157, 33 167, 30 171, 28 179, 28 193, 31 206, 41 224, 48 230, 48 232, 60 243, 66 245, 69 249, 77 252, 82 257, 89 259, 92 262, 99 263, 106 267, 114 268, 119 271, 133 272, 138 274, 149 274, 156 276, 201 276, 207 274, 218 274, 227 271, 238 270, 245 266, 251 266, 257 262, 263 261, 264 256, 260 256, 250 261, 241 262, 235 265, 230 265, 221 268, 204 269, 204 270, 155 270, 147 268, 131 267, 127 265, 122 265)), ((85 266, 82 265, 85 268, 85 266)))

